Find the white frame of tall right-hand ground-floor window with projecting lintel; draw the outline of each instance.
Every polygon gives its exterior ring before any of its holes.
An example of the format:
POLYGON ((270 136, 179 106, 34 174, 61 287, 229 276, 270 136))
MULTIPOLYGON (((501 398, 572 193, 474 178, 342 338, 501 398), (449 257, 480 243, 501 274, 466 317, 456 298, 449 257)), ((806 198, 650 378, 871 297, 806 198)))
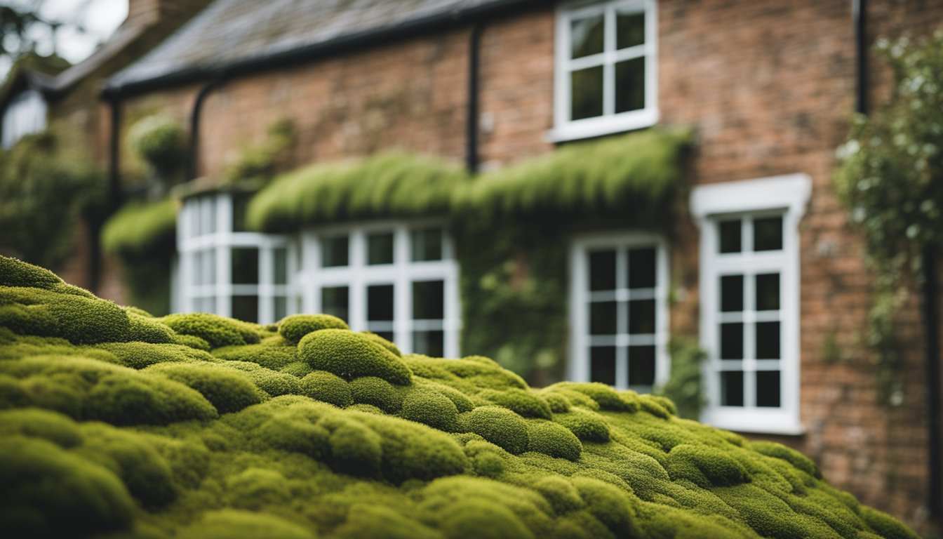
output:
MULTIPOLYGON (((701 344, 708 354, 703 373, 708 404, 701 415, 705 423, 741 432, 800 434, 803 431, 800 420, 799 222, 811 192, 812 180, 804 174, 701 185, 691 192, 690 210, 701 228, 701 344), (719 221, 744 215, 762 217, 770 214, 783 215, 782 251, 720 254, 719 221), (770 270, 780 272, 778 319, 782 324, 779 360, 782 385, 779 408, 719 404, 718 283, 720 276, 731 270, 747 276, 770 270)), ((741 242, 747 245, 749 240, 748 235, 741 242)), ((746 288, 749 290, 750 286, 746 288)), ((745 296, 744 302, 748 301, 749 297, 745 296)), ((747 308, 746 304, 744 308, 747 308)), ((745 312, 744 316, 755 317, 755 313, 745 312)), ((747 361, 744 360, 745 370, 747 361)), ((751 385, 745 381, 745 405, 750 402, 747 396, 750 390, 751 385)))

